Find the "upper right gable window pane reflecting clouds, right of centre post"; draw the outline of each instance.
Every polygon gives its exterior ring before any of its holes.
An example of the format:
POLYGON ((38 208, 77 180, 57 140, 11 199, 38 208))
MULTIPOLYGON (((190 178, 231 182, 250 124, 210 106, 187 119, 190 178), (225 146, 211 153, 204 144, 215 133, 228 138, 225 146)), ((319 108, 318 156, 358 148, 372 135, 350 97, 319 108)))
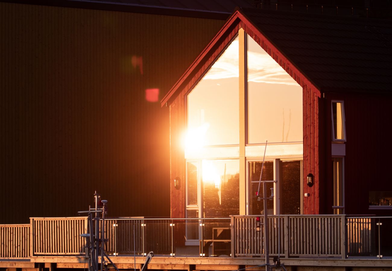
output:
POLYGON ((302 87, 248 37, 248 143, 303 141, 302 87))

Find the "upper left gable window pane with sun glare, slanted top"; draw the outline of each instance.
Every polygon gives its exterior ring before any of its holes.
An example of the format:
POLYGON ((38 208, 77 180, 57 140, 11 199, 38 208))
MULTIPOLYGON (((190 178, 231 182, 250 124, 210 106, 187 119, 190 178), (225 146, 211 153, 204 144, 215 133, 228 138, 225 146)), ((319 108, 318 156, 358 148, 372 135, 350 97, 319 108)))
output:
POLYGON ((238 37, 188 94, 185 148, 239 143, 238 37))

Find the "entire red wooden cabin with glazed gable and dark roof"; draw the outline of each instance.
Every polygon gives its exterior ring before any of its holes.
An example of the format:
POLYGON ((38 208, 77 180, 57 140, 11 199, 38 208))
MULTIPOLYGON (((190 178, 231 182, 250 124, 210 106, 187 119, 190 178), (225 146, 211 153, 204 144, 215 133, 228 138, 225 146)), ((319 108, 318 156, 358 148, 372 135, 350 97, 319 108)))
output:
POLYGON ((236 10, 162 99, 171 216, 260 214, 266 140, 270 214, 390 215, 391 33, 383 20, 236 10))

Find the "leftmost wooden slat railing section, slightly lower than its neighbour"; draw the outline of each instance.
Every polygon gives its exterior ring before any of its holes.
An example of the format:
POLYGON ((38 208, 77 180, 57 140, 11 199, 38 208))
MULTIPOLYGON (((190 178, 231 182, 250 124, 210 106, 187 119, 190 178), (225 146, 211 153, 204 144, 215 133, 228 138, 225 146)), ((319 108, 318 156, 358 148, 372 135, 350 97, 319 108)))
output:
POLYGON ((0 225, 0 258, 30 256, 30 224, 0 225))

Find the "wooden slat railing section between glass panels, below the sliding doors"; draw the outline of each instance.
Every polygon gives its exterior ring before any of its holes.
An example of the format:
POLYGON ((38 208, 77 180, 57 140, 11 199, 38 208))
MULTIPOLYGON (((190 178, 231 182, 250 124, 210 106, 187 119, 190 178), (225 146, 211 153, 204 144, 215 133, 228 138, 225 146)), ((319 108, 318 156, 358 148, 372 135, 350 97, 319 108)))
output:
MULTIPOLYGON (((263 217, 260 219, 263 223, 263 217)), ((280 250, 284 257, 345 257, 344 215, 281 215, 280 225, 278 216, 269 215, 268 222, 270 255, 280 250)), ((256 231, 256 216, 232 216, 232 225, 234 257, 264 255, 263 231, 256 231)))

